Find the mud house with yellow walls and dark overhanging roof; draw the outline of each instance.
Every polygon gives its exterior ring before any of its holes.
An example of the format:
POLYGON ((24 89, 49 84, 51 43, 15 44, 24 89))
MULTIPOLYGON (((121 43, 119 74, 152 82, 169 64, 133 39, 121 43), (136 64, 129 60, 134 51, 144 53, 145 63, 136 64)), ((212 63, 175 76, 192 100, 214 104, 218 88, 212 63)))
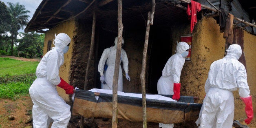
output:
MULTIPOLYGON (((202 103, 210 64, 223 58, 225 49, 234 43, 240 44, 243 49, 240 61, 247 68, 248 84, 255 103, 256 31, 253 27, 255 24, 252 24, 252 19, 256 18, 255 2, 209 1, 216 9, 206 0, 197 0, 202 8, 197 12, 197 24, 190 33, 190 20, 186 14, 190 0, 156 0, 146 62, 146 93, 157 94, 157 81, 168 58, 175 53, 177 41, 181 40, 181 35, 192 34, 190 61, 185 62, 181 73, 181 95, 199 97, 195 102, 202 103), (231 43, 226 42, 219 24, 216 23, 219 14, 214 11, 220 8, 235 17, 232 25, 234 38, 231 43)), ((124 92, 141 93, 142 54, 147 15, 152 8, 151 2, 152 0, 123 0, 123 49, 128 56, 131 77, 131 81, 128 82, 123 76, 124 92)), ((52 42, 55 33, 67 33, 71 37, 70 50, 64 55, 65 62, 60 69, 60 76, 78 88, 84 88, 93 11, 96 14, 95 47, 88 70, 86 89, 100 88, 97 66, 103 50, 112 46, 117 36, 117 0, 42 0, 25 29, 25 32, 45 33, 44 54, 54 46, 52 42)), ((64 90, 58 91, 66 101, 69 100, 64 90)), ((245 119, 244 105, 239 99, 238 91, 234 92, 234 96, 234 119, 245 119)))

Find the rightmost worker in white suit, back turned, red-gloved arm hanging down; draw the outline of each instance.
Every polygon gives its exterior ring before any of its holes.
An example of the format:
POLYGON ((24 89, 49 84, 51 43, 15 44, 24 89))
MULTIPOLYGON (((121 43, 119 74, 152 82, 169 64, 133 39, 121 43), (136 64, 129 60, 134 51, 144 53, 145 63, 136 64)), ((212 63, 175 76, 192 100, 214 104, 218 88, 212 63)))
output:
POLYGON ((234 118, 234 97, 232 91, 239 89, 245 103, 249 124, 253 119, 252 96, 247 84, 245 66, 238 61, 242 55, 241 46, 232 44, 227 55, 212 63, 205 82, 205 98, 196 125, 199 128, 232 128, 234 118))

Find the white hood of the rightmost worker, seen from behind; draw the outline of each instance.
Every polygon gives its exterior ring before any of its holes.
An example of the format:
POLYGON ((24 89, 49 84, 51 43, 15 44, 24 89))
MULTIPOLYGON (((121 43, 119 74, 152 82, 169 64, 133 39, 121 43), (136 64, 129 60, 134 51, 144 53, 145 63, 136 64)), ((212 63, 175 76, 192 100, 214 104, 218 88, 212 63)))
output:
POLYGON ((227 57, 234 57, 236 58, 236 60, 238 60, 242 55, 241 46, 238 44, 230 45, 226 51, 227 51, 227 57))

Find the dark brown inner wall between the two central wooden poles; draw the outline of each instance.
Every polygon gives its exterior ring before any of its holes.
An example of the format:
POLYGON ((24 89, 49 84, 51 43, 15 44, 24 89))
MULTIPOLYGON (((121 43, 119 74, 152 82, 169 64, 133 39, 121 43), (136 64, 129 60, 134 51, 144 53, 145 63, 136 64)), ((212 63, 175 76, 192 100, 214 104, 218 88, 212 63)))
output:
MULTIPOLYGON (((130 82, 123 76, 123 91, 132 93, 141 93, 141 64, 144 48, 145 31, 126 31, 123 35, 128 61, 130 82)), ((124 70, 123 73, 125 74, 124 70)))

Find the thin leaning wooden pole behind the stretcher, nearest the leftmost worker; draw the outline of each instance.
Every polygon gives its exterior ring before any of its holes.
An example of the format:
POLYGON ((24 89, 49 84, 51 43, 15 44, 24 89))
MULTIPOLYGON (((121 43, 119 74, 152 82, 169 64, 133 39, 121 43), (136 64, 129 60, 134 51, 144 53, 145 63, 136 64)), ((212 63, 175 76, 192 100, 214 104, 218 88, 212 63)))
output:
MULTIPOLYGON (((85 78, 84 78, 84 90, 88 88, 88 73, 89 73, 89 68, 90 68, 90 62, 92 61, 92 55, 93 55, 93 50, 94 50, 94 44, 95 44, 95 24, 96 24, 96 14, 95 10, 93 11, 93 25, 92 25, 92 36, 90 40, 90 52, 89 52, 89 57, 87 61, 87 66, 86 66, 86 73, 85 73, 85 78)), ((81 126, 80 128, 84 128, 84 117, 81 117, 81 126)))

